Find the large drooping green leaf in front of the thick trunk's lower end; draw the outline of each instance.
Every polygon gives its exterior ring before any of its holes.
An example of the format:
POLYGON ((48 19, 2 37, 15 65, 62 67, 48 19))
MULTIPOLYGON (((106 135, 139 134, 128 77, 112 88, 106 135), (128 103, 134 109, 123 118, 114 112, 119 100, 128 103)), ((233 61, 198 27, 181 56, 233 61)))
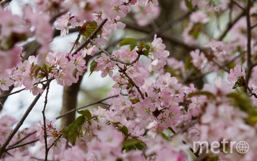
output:
POLYGON ((68 127, 65 127, 63 130, 63 136, 68 134, 68 141, 75 145, 76 138, 79 136, 81 132, 81 127, 85 122, 86 118, 84 116, 79 116, 73 123, 71 123, 68 127))

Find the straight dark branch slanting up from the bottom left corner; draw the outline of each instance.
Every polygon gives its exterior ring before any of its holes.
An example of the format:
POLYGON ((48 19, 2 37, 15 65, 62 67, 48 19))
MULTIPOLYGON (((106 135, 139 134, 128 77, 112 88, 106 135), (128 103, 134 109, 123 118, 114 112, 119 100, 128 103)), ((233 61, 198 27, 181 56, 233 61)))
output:
MULTIPOLYGON (((49 81, 50 82, 50 81, 49 81)), ((47 84, 47 83, 46 83, 47 84)), ((43 85, 42 89, 45 90, 46 89, 46 84, 43 85)), ((9 134, 9 136, 7 137, 7 139, 5 140, 5 142, 2 144, 2 146, 0 147, 0 158, 4 153, 4 150, 6 148, 6 146, 10 143, 11 139, 13 138, 13 136, 16 134, 16 132, 19 130, 19 128, 22 126, 23 122, 25 121, 25 119, 27 118, 28 114, 31 112, 32 108, 35 106, 35 104, 37 103, 37 100, 40 98, 41 94, 38 93, 37 96, 34 98, 34 100, 32 101, 32 103, 29 105, 28 109, 26 110, 26 112, 23 114, 22 118, 19 120, 19 122, 17 123, 17 125, 15 126, 15 128, 13 129, 13 131, 11 131, 11 133, 9 134)))

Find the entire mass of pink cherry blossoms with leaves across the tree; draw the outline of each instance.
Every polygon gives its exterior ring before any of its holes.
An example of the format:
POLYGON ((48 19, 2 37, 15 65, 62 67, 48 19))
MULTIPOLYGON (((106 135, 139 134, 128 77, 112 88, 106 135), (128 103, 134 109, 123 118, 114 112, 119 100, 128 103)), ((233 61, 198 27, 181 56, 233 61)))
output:
MULTIPOLYGON (((184 63, 168 58, 170 52, 156 34, 152 42, 125 38, 117 50, 107 52, 101 48, 112 32, 125 28, 120 19, 133 6, 134 18, 140 26, 154 20, 160 12, 157 0, 33 2, 22 8, 23 16, 13 15, 8 7, 0 7, 0 95, 13 85, 25 86, 39 97, 44 92, 39 84, 45 78, 55 79, 61 86, 71 86, 85 73, 86 57, 94 56, 99 50, 101 55, 93 58, 90 72, 100 71, 102 78, 109 76, 114 84, 108 92, 106 106, 77 111, 79 117, 62 130, 56 127, 56 119, 44 119, 43 123, 39 121, 35 132, 34 126, 16 132, 4 147, 8 151, 8 155, 3 155, 4 160, 32 161, 45 155, 47 159, 47 152, 49 159, 61 161, 190 160, 192 155, 199 156, 197 151, 190 151, 193 141, 211 143, 223 138, 247 140, 250 149, 243 155, 210 154, 208 159, 257 160, 257 67, 249 62, 256 61, 257 48, 247 46, 255 41, 257 33, 252 30, 252 40, 247 39, 245 17, 231 28, 232 36, 227 41, 211 38, 203 48, 190 50, 184 63), (69 34, 71 28, 79 31, 78 38, 70 42, 70 51, 51 51, 54 28, 60 30, 61 37, 69 34), (83 43, 80 38, 84 39, 83 43), (36 54, 24 59, 26 45, 22 43, 29 44, 32 39, 38 46, 36 54), (245 51, 250 53, 249 48, 251 57, 244 55, 245 51), (219 72, 220 68, 229 72, 226 81, 216 76, 213 85, 204 83, 200 90, 187 82, 188 71, 200 71, 204 76, 207 72, 219 72), (15 146, 21 142, 34 143, 33 140, 40 143, 37 154, 31 153, 27 144, 15 146), (46 152, 47 148, 50 151, 46 152)), ((192 49, 199 45, 199 35, 211 21, 209 13, 225 11, 230 1, 183 1, 182 9, 185 4, 189 10, 190 6, 194 7, 188 27, 182 33, 184 46, 192 49)), ((242 4, 239 2, 237 6, 242 4)), ((256 6, 249 11, 253 24, 256 6)), ((1 147, 17 122, 6 115, 0 118, 1 147)), ((18 124, 22 123, 21 119, 18 124)), ((0 148, 0 157, 4 148, 0 148)), ((229 145, 223 148, 235 149, 229 145)))

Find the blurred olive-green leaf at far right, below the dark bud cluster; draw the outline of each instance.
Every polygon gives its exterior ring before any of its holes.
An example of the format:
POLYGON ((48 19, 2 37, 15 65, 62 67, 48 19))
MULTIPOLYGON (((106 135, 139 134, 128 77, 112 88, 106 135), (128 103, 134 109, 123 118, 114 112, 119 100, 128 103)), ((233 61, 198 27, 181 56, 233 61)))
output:
POLYGON ((248 112, 248 110, 252 108, 251 100, 244 92, 230 93, 227 97, 234 98, 236 105, 238 105, 242 111, 248 112))

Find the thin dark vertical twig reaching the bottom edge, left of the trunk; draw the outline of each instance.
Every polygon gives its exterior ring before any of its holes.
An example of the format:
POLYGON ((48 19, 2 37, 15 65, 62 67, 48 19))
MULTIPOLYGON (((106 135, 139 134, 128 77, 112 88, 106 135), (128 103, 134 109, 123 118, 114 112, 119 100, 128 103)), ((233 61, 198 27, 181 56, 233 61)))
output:
POLYGON ((46 155, 45 155, 45 160, 47 161, 47 155, 48 155, 48 150, 47 150, 47 134, 46 134, 46 116, 45 116, 45 110, 46 110, 46 104, 47 104, 47 95, 49 92, 49 80, 48 80, 48 75, 46 75, 46 81, 47 81, 47 88, 46 88, 46 97, 45 97, 45 104, 44 108, 42 111, 43 114, 43 122, 44 122, 44 140, 45 140, 45 149, 46 149, 46 155))

